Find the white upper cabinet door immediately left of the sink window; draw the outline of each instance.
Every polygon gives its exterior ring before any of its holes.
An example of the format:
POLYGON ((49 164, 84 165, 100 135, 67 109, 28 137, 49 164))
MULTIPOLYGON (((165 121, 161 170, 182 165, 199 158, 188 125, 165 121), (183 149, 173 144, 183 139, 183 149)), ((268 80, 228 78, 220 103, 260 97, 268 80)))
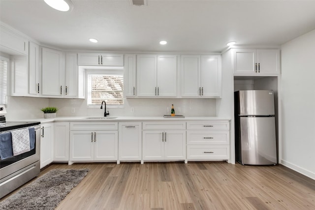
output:
POLYGON ((78 88, 78 65, 77 54, 66 53, 65 54, 65 87, 63 95, 65 97, 77 97, 78 88))

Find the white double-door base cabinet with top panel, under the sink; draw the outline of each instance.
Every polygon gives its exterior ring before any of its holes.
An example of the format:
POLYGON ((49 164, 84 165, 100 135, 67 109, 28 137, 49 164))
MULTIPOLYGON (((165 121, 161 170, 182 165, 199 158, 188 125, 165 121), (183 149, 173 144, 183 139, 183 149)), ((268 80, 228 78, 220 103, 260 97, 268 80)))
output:
POLYGON ((117 122, 71 122, 69 164, 118 160, 117 122))

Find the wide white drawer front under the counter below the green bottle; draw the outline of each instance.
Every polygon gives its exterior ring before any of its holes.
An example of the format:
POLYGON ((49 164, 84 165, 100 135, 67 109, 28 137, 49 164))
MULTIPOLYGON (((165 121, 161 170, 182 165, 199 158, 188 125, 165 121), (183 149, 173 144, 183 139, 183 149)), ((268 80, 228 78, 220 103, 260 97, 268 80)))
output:
POLYGON ((142 124, 143 130, 185 130, 186 122, 183 121, 146 121, 142 124))

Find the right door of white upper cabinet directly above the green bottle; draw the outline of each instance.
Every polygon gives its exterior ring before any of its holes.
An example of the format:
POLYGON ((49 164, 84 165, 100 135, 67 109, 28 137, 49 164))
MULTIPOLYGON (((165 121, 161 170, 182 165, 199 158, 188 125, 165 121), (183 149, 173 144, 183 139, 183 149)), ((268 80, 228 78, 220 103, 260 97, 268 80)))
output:
POLYGON ((177 56, 158 55, 157 57, 158 96, 177 96, 177 56))

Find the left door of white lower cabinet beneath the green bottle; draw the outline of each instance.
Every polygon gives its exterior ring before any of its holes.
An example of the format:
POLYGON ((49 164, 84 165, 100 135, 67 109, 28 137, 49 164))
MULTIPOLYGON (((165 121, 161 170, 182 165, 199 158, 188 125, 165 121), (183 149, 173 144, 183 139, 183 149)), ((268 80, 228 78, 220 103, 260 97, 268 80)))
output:
POLYGON ((161 130, 142 131, 142 158, 143 160, 163 160, 164 140, 161 130))

